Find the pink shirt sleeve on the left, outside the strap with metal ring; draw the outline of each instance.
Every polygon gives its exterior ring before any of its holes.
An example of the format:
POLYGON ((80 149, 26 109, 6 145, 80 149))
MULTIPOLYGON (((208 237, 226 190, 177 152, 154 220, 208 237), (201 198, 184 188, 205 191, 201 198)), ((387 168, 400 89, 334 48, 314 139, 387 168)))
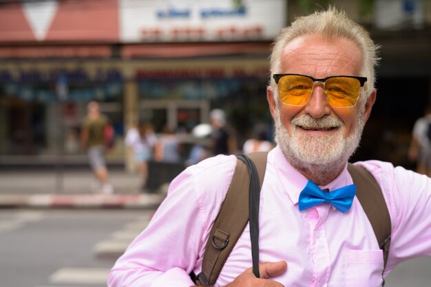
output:
POLYGON ((109 287, 194 285, 189 273, 202 264, 204 244, 235 168, 233 159, 202 161, 171 182, 147 228, 112 268, 109 287))

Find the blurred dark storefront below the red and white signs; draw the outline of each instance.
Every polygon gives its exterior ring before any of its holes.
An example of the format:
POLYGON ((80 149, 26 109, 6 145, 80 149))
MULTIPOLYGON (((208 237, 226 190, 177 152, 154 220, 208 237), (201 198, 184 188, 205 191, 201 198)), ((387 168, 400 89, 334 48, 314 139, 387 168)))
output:
MULTIPOLYGON (((74 60, 10 62, 0 70, 0 156, 49 161, 59 152, 85 161, 81 122, 90 100, 101 103, 116 132, 112 160, 121 161, 125 130, 139 120, 167 126, 182 141, 224 108, 246 137, 253 122, 268 120, 264 57, 169 60, 74 60), (253 117, 249 113, 253 113, 253 117), (7 123, 7 124, 6 124, 7 123), (76 157, 78 156, 78 157, 76 157)), ((70 157, 67 157, 70 156, 70 157)))

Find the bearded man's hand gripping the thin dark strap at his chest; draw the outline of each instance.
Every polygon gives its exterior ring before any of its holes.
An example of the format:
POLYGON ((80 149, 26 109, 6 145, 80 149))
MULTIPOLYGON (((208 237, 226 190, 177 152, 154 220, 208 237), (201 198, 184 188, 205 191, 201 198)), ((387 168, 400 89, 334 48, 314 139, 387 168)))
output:
POLYGON ((286 269, 286 261, 261 263, 259 264, 260 278, 255 277, 253 274, 253 268, 248 268, 246 271, 236 277, 233 282, 227 284, 226 287, 283 287, 282 284, 268 278, 280 275, 284 273, 286 269))

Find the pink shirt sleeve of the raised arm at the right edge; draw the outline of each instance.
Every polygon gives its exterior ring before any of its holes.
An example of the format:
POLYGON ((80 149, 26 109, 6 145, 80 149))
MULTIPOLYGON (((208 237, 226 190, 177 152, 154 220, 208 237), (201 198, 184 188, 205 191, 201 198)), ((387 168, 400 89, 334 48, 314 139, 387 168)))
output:
POLYGON ((380 165, 375 165, 372 173, 379 181, 392 223, 387 274, 400 262, 431 256, 431 179, 389 163, 380 165))

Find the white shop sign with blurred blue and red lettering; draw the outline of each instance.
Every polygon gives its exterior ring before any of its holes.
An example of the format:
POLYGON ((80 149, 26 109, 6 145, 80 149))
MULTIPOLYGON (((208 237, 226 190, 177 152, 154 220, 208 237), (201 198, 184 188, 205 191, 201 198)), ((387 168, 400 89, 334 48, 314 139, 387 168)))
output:
POLYGON ((286 0, 120 0, 120 41, 272 40, 286 0))

